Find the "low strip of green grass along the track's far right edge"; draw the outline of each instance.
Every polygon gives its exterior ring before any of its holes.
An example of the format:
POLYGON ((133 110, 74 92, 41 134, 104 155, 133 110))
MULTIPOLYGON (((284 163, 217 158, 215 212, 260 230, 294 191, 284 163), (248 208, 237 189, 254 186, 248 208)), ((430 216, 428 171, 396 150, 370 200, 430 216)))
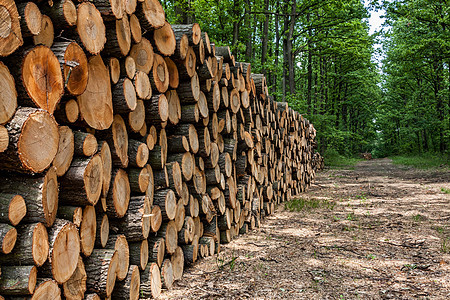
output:
POLYGON ((392 156, 394 164, 411 166, 418 169, 449 168, 449 157, 441 154, 426 153, 410 156, 392 156))

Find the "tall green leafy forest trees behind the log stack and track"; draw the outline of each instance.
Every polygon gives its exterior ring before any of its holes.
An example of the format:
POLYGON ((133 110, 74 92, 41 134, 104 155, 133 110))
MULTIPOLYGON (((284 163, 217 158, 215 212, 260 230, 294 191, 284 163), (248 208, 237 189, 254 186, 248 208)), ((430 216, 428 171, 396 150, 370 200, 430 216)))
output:
POLYGON ((325 157, 450 157, 450 1, 165 0, 266 75, 325 157), (370 34, 370 12, 384 25, 370 34), (376 45, 380 45, 376 46, 376 45), (377 60, 375 57, 381 57, 377 60))

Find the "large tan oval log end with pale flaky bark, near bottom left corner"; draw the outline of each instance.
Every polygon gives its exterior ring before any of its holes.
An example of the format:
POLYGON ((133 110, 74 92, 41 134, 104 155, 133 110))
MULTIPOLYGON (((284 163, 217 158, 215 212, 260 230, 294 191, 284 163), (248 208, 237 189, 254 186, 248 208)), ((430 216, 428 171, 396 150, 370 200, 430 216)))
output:
MULTIPOLYGON (((95 237, 95 236, 94 236, 95 237)), ((80 236, 75 224, 56 219, 48 231, 48 267, 53 279, 63 284, 72 276, 80 256, 80 236)))

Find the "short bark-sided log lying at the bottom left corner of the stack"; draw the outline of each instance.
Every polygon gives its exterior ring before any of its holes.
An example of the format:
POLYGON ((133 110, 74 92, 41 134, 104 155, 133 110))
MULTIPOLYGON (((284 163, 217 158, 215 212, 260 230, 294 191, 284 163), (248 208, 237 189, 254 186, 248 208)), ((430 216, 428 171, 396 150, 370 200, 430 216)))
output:
POLYGON ((0 290, 3 295, 31 295, 37 279, 35 266, 2 266, 0 290))

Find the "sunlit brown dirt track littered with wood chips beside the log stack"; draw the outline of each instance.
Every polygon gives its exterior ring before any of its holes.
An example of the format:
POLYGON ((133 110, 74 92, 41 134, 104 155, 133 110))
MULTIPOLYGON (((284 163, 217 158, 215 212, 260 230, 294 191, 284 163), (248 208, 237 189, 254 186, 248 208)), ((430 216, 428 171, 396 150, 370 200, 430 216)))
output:
POLYGON ((450 299, 448 169, 363 161, 319 172, 301 197, 161 298, 450 299))

